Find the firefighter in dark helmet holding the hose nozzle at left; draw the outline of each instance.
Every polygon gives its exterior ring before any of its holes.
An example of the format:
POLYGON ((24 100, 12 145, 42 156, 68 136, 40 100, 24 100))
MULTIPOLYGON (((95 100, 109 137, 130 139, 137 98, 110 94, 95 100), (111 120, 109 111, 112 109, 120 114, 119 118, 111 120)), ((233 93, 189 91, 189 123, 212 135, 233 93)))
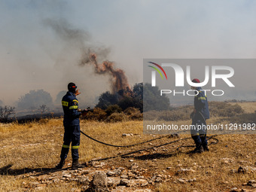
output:
POLYGON ((63 138, 63 145, 60 154, 60 162, 56 166, 56 169, 62 169, 65 164, 66 157, 69 154, 69 147, 70 143, 72 143, 72 169, 78 169, 84 167, 83 165, 78 163, 79 154, 78 148, 80 145, 80 120, 79 116, 81 114, 84 115, 84 112, 78 111, 78 96, 79 90, 74 83, 68 84, 68 92, 62 98, 62 108, 64 111, 64 138, 63 138))

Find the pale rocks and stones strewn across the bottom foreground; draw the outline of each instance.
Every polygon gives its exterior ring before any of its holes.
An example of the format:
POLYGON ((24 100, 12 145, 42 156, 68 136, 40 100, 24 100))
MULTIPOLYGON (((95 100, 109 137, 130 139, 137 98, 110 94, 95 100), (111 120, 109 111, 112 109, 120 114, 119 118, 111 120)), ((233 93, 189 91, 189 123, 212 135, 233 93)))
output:
MULTIPOLYGON (((157 160, 154 160, 157 161, 157 160)), ((223 158, 223 163, 232 163, 233 159, 223 158)), ((166 170, 161 172, 151 172, 148 169, 144 169, 139 166, 135 160, 129 160, 130 166, 113 166, 108 161, 93 160, 90 163, 85 164, 85 168, 71 169, 71 163, 66 163, 63 169, 42 169, 34 170, 33 172, 26 172, 19 175, 17 178, 29 178, 29 182, 23 182, 24 191, 40 191, 45 190, 49 185, 59 184, 69 185, 71 182, 77 183, 78 187, 72 188, 71 191, 137 191, 137 192, 150 192, 155 191, 156 184, 172 183, 193 185, 197 182, 197 178, 193 177, 193 173, 197 172, 201 167, 194 163, 192 168, 176 169, 174 176, 169 174, 172 167, 166 167, 166 170), (191 176, 192 175, 192 176, 191 176)), ((214 166, 212 167, 214 169, 214 166)), ((12 169, 8 169, 8 172, 14 172, 12 169)), ((230 169, 230 174, 245 175, 251 172, 256 172, 256 165, 252 166, 239 166, 238 169, 230 169)), ((228 183, 228 181, 227 181, 228 183)), ((13 190, 12 192, 20 191, 13 190)), ((192 190, 197 192, 197 190, 192 190)), ((224 190, 230 192, 253 192, 256 191, 256 181, 248 180, 242 187, 233 187, 230 190, 224 190)))

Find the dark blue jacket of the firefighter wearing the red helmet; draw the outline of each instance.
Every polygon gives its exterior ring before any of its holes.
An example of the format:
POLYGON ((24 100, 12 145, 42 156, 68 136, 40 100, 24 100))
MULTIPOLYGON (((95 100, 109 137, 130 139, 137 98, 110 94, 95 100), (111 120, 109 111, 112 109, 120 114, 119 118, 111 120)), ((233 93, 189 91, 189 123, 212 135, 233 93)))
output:
MULTIPOLYGON (((202 90, 201 87, 197 87, 197 91, 199 93, 197 96, 194 97, 194 108, 196 109, 197 112, 203 114, 203 117, 205 117, 205 119, 209 119, 210 112, 206 93, 202 90)), ((195 91, 195 93, 197 93, 197 91, 195 91)))

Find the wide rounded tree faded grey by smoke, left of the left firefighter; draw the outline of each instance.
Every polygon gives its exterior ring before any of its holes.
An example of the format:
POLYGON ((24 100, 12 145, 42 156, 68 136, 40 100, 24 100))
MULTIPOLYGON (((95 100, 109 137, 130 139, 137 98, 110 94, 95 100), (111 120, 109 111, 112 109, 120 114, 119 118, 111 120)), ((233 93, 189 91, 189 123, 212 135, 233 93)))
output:
POLYGON ((20 109, 36 109, 40 105, 53 105, 50 93, 44 90, 30 90, 25 96, 21 96, 17 102, 17 106, 20 109))

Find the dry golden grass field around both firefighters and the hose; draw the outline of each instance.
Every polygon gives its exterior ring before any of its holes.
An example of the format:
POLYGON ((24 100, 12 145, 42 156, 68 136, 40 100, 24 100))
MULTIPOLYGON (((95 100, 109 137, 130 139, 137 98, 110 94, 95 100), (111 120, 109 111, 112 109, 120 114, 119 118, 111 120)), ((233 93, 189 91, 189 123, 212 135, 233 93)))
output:
MULTIPOLYGON (((256 109, 256 102, 239 105, 245 113, 253 113, 256 109)), ((220 120, 220 117, 214 117, 209 123, 220 120)), ((190 120, 175 123, 190 124, 190 120)), ((93 138, 114 145, 130 145, 158 137, 143 135, 142 125, 139 120, 119 123, 82 120, 81 130, 93 138), (123 133, 133 133, 133 136, 123 137, 123 133)), ((81 191, 82 184, 65 180, 57 184, 41 182, 42 187, 33 187, 33 183, 38 182, 38 175, 44 172, 44 169, 53 168, 59 162, 62 136, 62 119, 0 124, 0 191, 81 191)), ((256 180, 256 135, 216 136, 218 143, 210 145, 210 151, 203 154, 187 153, 193 148, 184 146, 194 145, 192 139, 153 148, 187 137, 190 136, 159 139, 132 148, 113 148, 81 135, 80 161, 86 163, 94 158, 113 157, 100 161, 104 162, 105 166, 95 169, 129 169, 136 163, 144 170, 143 177, 162 177, 163 181, 138 187, 142 189, 140 191, 231 191, 233 187, 237 188, 233 189, 234 191, 256 191, 255 186, 248 185, 249 180, 256 180), (141 149, 146 150, 138 151, 141 149), (242 171, 237 172, 240 166, 242 171)), ((70 166, 69 163, 72 163, 70 152, 66 167, 70 166)), ((88 166, 84 169, 94 168, 88 166)), ((136 190, 136 187, 126 187, 124 191, 133 190, 136 190)))

